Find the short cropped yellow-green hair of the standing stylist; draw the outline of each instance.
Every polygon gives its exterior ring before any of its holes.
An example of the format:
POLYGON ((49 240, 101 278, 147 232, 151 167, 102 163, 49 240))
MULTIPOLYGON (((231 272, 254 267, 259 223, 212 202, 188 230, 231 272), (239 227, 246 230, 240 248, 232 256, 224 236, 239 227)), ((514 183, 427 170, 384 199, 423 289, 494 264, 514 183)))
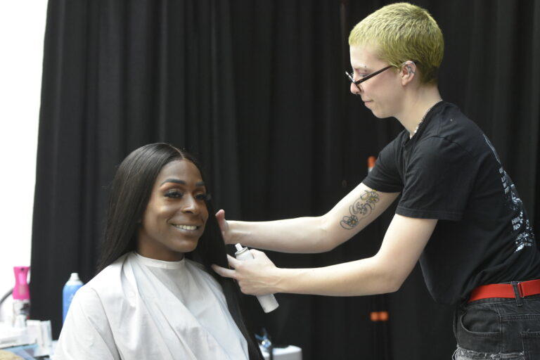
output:
POLYGON ((413 60, 420 82, 436 84, 444 53, 439 25, 427 10, 409 3, 384 6, 352 29, 349 46, 375 46, 378 57, 396 68, 413 60))

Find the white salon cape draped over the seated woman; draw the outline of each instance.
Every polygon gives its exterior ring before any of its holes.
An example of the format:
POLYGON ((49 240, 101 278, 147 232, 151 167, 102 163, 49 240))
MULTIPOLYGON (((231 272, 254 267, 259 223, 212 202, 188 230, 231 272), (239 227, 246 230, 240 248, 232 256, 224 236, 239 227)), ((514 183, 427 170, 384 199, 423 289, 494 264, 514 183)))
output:
POLYGON ((189 259, 123 255, 80 288, 54 360, 249 359, 221 285, 189 259))

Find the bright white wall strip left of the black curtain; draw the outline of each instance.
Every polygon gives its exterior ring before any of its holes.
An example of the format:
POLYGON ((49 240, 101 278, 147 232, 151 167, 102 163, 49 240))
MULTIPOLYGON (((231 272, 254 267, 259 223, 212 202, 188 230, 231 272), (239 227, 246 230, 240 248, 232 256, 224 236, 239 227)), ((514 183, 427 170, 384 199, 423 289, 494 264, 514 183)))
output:
POLYGON ((0 297, 30 265, 46 7, 0 0, 0 297))

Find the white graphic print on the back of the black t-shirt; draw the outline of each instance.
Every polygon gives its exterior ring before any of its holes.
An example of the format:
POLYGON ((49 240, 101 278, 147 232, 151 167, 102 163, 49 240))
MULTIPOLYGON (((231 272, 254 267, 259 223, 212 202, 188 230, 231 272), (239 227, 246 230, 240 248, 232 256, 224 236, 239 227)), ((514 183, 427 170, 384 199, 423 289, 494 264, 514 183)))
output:
POLYGON ((515 251, 520 251, 525 246, 532 246, 534 244, 534 233, 532 231, 532 226, 529 224, 529 219, 523 207, 523 202, 520 199, 518 190, 515 188, 515 185, 510 179, 510 176, 504 171, 499 160, 499 155, 487 136, 484 135, 487 145, 491 148, 491 151, 495 155, 497 162, 501 167, 499 168, 499 174, 501 175, 501 182, 503 185, 504 196, 506 198, 506 203, 508 210, 513 212, 514 216, 512 217, 512 235, 515 238, 515 251))

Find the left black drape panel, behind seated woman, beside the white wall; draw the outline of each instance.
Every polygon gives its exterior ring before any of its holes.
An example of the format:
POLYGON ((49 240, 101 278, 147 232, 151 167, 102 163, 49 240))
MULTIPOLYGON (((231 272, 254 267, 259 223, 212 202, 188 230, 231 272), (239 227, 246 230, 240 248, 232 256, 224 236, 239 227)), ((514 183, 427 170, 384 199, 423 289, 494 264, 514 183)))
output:
POLYGON ((131 150, 193 150, 240 217, 229 19, 226 1, 49 1, 31 291, 55 335, 69 273, 94 276, 106 188, 131 150))

